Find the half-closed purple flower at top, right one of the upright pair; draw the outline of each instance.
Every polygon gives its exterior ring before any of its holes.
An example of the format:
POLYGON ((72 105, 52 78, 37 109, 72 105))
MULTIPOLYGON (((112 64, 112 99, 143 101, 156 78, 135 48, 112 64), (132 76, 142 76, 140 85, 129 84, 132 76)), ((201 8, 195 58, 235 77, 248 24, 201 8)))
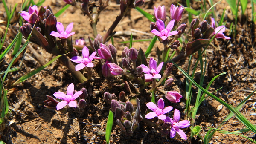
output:
POLYGON ((175 20, 175 25, 180 22, 183 11, 184 11, 183 6, 176 7, 175 5, 172 4, 172 6, 170 8, 170 13, 171 13, 172 20, 175 20))

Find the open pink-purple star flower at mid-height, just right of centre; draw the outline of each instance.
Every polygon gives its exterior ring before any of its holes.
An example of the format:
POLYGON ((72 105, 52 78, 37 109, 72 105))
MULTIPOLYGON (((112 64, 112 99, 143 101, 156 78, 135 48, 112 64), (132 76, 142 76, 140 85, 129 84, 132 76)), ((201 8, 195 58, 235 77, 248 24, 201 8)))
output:
POLYGON ((149 68, 148 66, 145 66, 144 64, 140 65, 143 67, 143 72, 145 73, 145 81, 146 82, 151 82, 153 81, 153 78, 161 78, 162 76, 159 74, 163 67, 163 62, 160 63, 157 66, 157 61, 154 60, 152 57, 149 60, 149 68))

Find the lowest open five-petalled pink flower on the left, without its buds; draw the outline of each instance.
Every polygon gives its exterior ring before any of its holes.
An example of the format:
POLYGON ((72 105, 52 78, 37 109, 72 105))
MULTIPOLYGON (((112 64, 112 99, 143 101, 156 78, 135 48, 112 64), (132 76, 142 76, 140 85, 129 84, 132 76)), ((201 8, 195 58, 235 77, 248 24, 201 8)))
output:
POLYGON ((81 95, 83 92, 82 91, 78 91, 74 94, 74 84, 71 83, 68 87, 67 87, 67 95, 64 94, 64 92, 55 92, 53 95, 58 98, 61 99, 63 101, 59 102, 56 106, 57 110, 62 109, 63 107, 67 106, 67 104, 70 107, 77 107, 77 103, 76 103, 76 98, 79 97, 79 95, 81 95))

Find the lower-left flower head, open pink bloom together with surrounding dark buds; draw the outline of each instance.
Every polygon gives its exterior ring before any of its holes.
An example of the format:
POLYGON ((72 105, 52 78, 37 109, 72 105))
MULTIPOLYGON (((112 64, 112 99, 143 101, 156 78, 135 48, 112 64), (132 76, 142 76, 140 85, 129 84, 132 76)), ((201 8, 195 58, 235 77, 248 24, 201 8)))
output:
POLYGON ((64 94, 64 92, 55 92, 53 94, 56 98, 62 101, 58 101, 52 96, 47 95, 48 99, 44 101, 44 107, 54 110, 62 110, 63 112, 67 110, 67 108, 73 107, 73 109, 83 112, 84 107, 86 106, 85 99, 88 97, 88 92, 85 88, 80 89, 80 91, 74 91, 74 87, 74 84, 71 83, 67 87, 67 94, 64 94))

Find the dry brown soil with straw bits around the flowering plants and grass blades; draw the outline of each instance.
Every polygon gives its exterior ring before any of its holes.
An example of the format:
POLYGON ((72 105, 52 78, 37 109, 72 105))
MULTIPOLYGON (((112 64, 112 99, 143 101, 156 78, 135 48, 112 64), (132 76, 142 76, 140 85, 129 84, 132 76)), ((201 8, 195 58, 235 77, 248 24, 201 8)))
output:
MULTIPOLYGON (((217 2, 216 0, 214 0, 217 2)), ((208 1, 207 1, 208 2, 208 1)), ((16 0, 8 0, 7 6, 14 6, 17 3, 16 0)), ((150 14, 154 13, 154 6, 165 5, 167 8, 167 15, 169 7, 172 3, 177 3, 174 0, 146 0, 146 3, 141 6, 146 12, 150 14)), ((186 6, 185 0, 180 0, 179 3, 186 6)), ((203 3, 203 1, 202 1, 203 3)), ((193 9, 201 9, 200 1, 191 1, 193 9)), ((62 0, 46 0, 44 6, 51 6, 53 12, 58 12, 65 3, 62 0)), ((17 12, 20 10, 21 1, 18 2, 17 12)), ((207 4, 209 8, 209 4, 207 4)), ((234 17, 230 10, 230 7, 225 1, 217 4, 215 7, 216 21, 219 21, 224 8, 225 11, 224 22, 226 22, 226 34, 231 34, 230 25, 234 23, 234 17)), ((188 22, 187 12, 184 11, 182 23, 188 22)), ((18 17, 18 13, 15 13, 18 17)), ((115 0, 111 0, 110 5, 100 14, 99 22, 97 24, 97 30, 99 34, 104 35, 111 26, 113 20, 119 14, 119 6, 116 5, 115 0)), ((0 26, 1 31, 5 33, 6 28, 6 14, 3 7, 3 3, 0 3, 0 26)), ((202 17, 199 17, 202 19, 202 17)), ((70 6, 66 12, 61 14, 57 20, 64 24, 66 27, 69 23, 74 22, 73 40, 88 36, 93 37, 93 32, 90 29, 90 22, 86 16, 83 16, 79 9, 70 6)), ((210 19, 207 18, 207 21, 210 19)), ((131 9, 128 14, 122 19, 119 25, 116 27, 117 32, 133 32, 134 40, 149 39, 153 37, 150 32, 150 21, 143 17, 135 9, 131 9), (137 32, 134 32, 137 30, 137 32), (142 33, 145 32, 145 33, 142 33)), ((17 32, 18 19, 13 19, 11 26, 7 33, 7 39, 4 42, 4 49, 11 43, 17 32)), ((236 36, 230 35, 231 40, 216 39, 213 41, 213 45, 207 49, 207 72, 204 80, 203 87, 206 87, 211 79, 222 73, 227 72, 226 75, 218 77, 209 89, 209 92, 214 92, 214 95, 218 96, 222 100, 236 107, 244 98, 250 95, 253 90, 256 89, 256 50, 255 47, 255 25, 251 21, 251 4, 249 2, 245 15, 241 15, 239 10, 239 17, 237 22, 236 36), (218 92, 215 90, 221 88, 218 92)), ((1 34, 1 33, 0 33, 1 34)), ((130 40, 130 35, 121 33, 114 37, 114 45, 118 49, 118 57, 121 58, 121 52, 129 43, 119 43, 122 41, 130 40)), ((134 42, 133 47, 139 49, 140 47, 145 50, 149 46, 149 41, 134 42)), ((47 63, 53 58, 53 55, 49 55, 41 47, 32 44, 41 57, 47 63)), ((156 46, 162 47, 159 41, 156 46)), ((1 52, 2 53, 2 52, 1 52)), ((156 52, 151 52, 149 57, 157 57, 156 52)), ((5 71, 11 58, 11 53, 6 55, 3 61, 1 61, 1 72, 5 71)), ((197 60, 197 54, 192 56, 192 65, 197 60)), ((188 67, 188 58, 180 60, 179 66, 183 69, 188 67)), ((44 62, 43 61, 43 62, 44 62)), ((53 62, 50 66, 32 76, 26 81, 18 84, 15 87, 10 87, 10 84, 15 82, 18 78, 24 74, 32 71, 33 69, 42 66, 43 62, 40 62, 35 58, 30 49, 27 49, 23 53, 22 57, 17 60, 13 65, 20 69, 15 72, 10 72, 6 81, 4 81, 4 87, 8 89, 8 102, 9 108, 12 112, 9 116, 5 130, 0 133, 0 139, 7 144, 104 144, 105 143, 105 128, 108 120, 108 112, 110 105, 102 98, 104 92, 108 90, 108 85, 102 74, 97 73, 99 70, 99 64, 94 60, 94 73, 95 78, 92 82, 79 85, 78 81, 70 74, 69 70, 61 64, 59 60, 53 62), (87 98, 87 106, 84 109, 82 115, 74 113, 73 109, 69 109, 65 113, 54 111, 44 107, 43 101, 47 100, 46 95, 53 95, 57 91, 66 92, 67 86, 70 83, 76 85, 76 90, 85 87, 88 90, 89 97, 87 98)), ((200 66, 196 69, 195 81, 199 82, 200 79, 200 66)), ((177 69, 173 68, 172 75, 174 78, 174 84, 168 90, 176 90, 183 96, 185 95, 185 76, 177 69)), ((193 87, 193 99, 192 104, 195 102, 197 95, 197 88, 193 87)), ((119 95, 121 89, 115 88, 111 93, 119 95)), ((161 98, 163 94, 157 93, 157 99, 161 98)), ((132 95, 126 92, 127 100, 132 95)), ((145 99, 141 99, 141 109, 145 112, 145 104, 150 101, 150 96, 145 95, 145 99)), ((181 99, 178 104, 172 104, 169 101, 165 101, 166 104, 172 105, 181 112, 181 118, 185 118, 185 98, 181 99)), ((253 96, 242 107, 240 112, 247 118, 252 124, 256 124, 255 108, 256 96, 253 96)), ((192 105, 193 106, 193 105, 192 105)), ((224 118, 228 115, 229 110, 222 106, 218 101, 208 97, 199 107, 196 125, 201 126, 202 130, 200 135, 204 138, 210 127, 217 128, 224 118)), ((225 122, 220 129, 227 131, 236 131, 245 128, 241 122, 235 117, 230 118, 225 122)), ((160 132, 155 130, 154 127, 149 126, 143 121, 140 122, 140 126, 134 131, 133 135, 126 136, 117 126, 116 122, 113 124, 111 133, 111 144, 203 144, 203 141, 199 137, 189 138, 189 128, 184 129, 188 140, 181 140, 178 137, 169 138, 161 137, 160 132)), ((249 138, 256 140, 255 133, 249 131, 244 132, 249 138)), ((250 140, 237 135, 227 135, 215 133, 211 144, 250 144, 250 140)))

